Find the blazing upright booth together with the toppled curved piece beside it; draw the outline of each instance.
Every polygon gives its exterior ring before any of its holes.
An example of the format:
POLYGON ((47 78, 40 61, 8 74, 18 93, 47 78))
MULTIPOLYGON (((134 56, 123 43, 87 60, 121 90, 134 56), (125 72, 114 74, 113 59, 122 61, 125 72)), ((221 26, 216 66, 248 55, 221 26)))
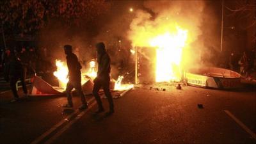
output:
MULTIPOLYGON (((174 27, 172 33, 168 32, 149 38, 147 43, 140 43, 143 42, 142 40, 136 41, 138 42, 136 45, 148 45, 147 47, 134 47, 131 50, 135 57, 136 84, 183 82, 205 88, 241 87, 241 75, 237 72, 225 68, 193 67, 191 64, 186 64, 186 61, 193 61, 191 60, 193 56, 187 52, 189 49, 188 31, 179 26, 171 26, 174 27)), ((192 63, 192 65, 195 64, 192 63)))

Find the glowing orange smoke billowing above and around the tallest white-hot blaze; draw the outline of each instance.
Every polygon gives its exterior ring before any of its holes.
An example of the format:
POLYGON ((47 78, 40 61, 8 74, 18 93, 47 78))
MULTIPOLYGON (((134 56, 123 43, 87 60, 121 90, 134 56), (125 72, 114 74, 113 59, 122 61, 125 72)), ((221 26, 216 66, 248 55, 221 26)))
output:
POLYGON ((214 28, 216 15, 211 8, 205 8, 205 1, 145 1, 144 6, 136 12, 127 33, 133 47, 150 47, 152 38, 175 31, 178 26, 188 31, 182 60, 188 67, 210 56, 211 53, 205 52, 208 47, 218 46, 218 33, 214 28))

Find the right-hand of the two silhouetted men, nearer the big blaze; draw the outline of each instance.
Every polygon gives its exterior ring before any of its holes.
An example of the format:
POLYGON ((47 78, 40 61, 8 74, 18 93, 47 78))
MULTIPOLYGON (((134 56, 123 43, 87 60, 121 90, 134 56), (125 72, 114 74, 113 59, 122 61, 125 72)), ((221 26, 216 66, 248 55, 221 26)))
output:
POLYGON ((97 100, 99 109, 95 112, 95 114, 102 113, 104 108, 102 106, 102 101, 100 100, 99 90, 102 87, 106 97, 108 98, 109 102, 109 112, 106 115, 111 115, 114 113, 114 104, 113 98, 109 91, 109 82, 110 82, 110 58, 108 53, 106 52, 104 43, 100 42, 96 45, 97 49, 97 61, 98 61, 98 72, 97 77, 94 79, 94 86, 93 86, 93 95, 97 100))

